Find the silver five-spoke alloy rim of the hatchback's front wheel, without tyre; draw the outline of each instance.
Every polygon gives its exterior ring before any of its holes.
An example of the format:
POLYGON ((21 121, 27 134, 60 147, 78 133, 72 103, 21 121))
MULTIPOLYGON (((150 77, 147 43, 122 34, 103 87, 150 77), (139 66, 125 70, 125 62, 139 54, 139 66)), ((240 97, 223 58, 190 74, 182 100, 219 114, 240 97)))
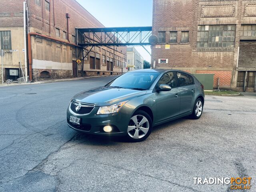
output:
POLYGON ((143 115, 134 115, 130 119, 127 129, 128 135, 134 139, 140 139, 144 137, 149 130, 148 119, 143 115))

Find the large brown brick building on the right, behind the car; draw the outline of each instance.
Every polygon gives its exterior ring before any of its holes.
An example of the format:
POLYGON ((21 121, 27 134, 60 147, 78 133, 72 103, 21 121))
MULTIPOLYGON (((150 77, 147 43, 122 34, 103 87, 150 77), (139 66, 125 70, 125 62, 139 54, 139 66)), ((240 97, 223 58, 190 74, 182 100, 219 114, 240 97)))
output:
POLYGON ((215 88, 219 78, 220 88, 255 91, 256 0, 153 0, 152 33, 152 66, 210 73, 215 88))

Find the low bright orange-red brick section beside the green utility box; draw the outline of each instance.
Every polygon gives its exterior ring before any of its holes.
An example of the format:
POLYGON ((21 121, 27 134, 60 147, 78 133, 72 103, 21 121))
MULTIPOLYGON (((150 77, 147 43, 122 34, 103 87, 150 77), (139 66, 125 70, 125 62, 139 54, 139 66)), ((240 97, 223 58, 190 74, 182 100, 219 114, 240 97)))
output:
POLYGON ((229 87, 231 84, 232 71, 214 71, 214 70, 196 70, 198 74, 214 74, 213 86, 218 86, 218 78, 220 78, 220 86, 229 87))

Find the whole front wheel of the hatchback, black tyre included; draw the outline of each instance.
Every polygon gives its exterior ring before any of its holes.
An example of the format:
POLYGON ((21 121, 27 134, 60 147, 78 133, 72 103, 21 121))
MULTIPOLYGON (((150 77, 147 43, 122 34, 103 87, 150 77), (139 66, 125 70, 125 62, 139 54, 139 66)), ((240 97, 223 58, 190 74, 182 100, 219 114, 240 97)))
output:
POLYGON ((150 116, 142 111, 138 110, 130 119, 127 128, 127 138, 131 142, 141 142, 148 138, 152 130, 152 120, 150 116))

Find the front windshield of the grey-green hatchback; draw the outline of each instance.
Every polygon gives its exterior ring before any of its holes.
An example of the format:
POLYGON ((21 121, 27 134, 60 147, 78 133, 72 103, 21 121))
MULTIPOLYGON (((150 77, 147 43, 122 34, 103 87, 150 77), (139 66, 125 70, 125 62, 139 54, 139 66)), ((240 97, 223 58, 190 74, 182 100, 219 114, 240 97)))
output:
POLYGON ((148 90, 160 73, 128 72, 109 82, 106 86, 126 89, 148 90))

